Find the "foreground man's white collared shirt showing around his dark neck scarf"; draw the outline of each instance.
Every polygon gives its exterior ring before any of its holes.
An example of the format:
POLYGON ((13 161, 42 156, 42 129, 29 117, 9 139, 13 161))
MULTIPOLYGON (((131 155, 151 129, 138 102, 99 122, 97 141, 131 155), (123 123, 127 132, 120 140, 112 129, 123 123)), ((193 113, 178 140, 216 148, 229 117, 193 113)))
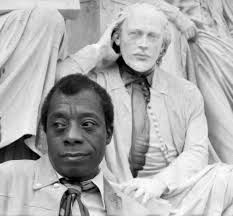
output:
MULTIPOLYGON (((59 179, 63 178, 59 173, 57 173, 59 179)), ((93 179, 92 183, 96 185, 99 189, 95 192, 82 192, 81 201, 87 207, 90 216, 106 216, 106 208, 104 203, 104 177, 103 173, 100 171, 93 179)), ((73 216, 80 216, 78 202, 75 202, 72 209, 73 216)))

